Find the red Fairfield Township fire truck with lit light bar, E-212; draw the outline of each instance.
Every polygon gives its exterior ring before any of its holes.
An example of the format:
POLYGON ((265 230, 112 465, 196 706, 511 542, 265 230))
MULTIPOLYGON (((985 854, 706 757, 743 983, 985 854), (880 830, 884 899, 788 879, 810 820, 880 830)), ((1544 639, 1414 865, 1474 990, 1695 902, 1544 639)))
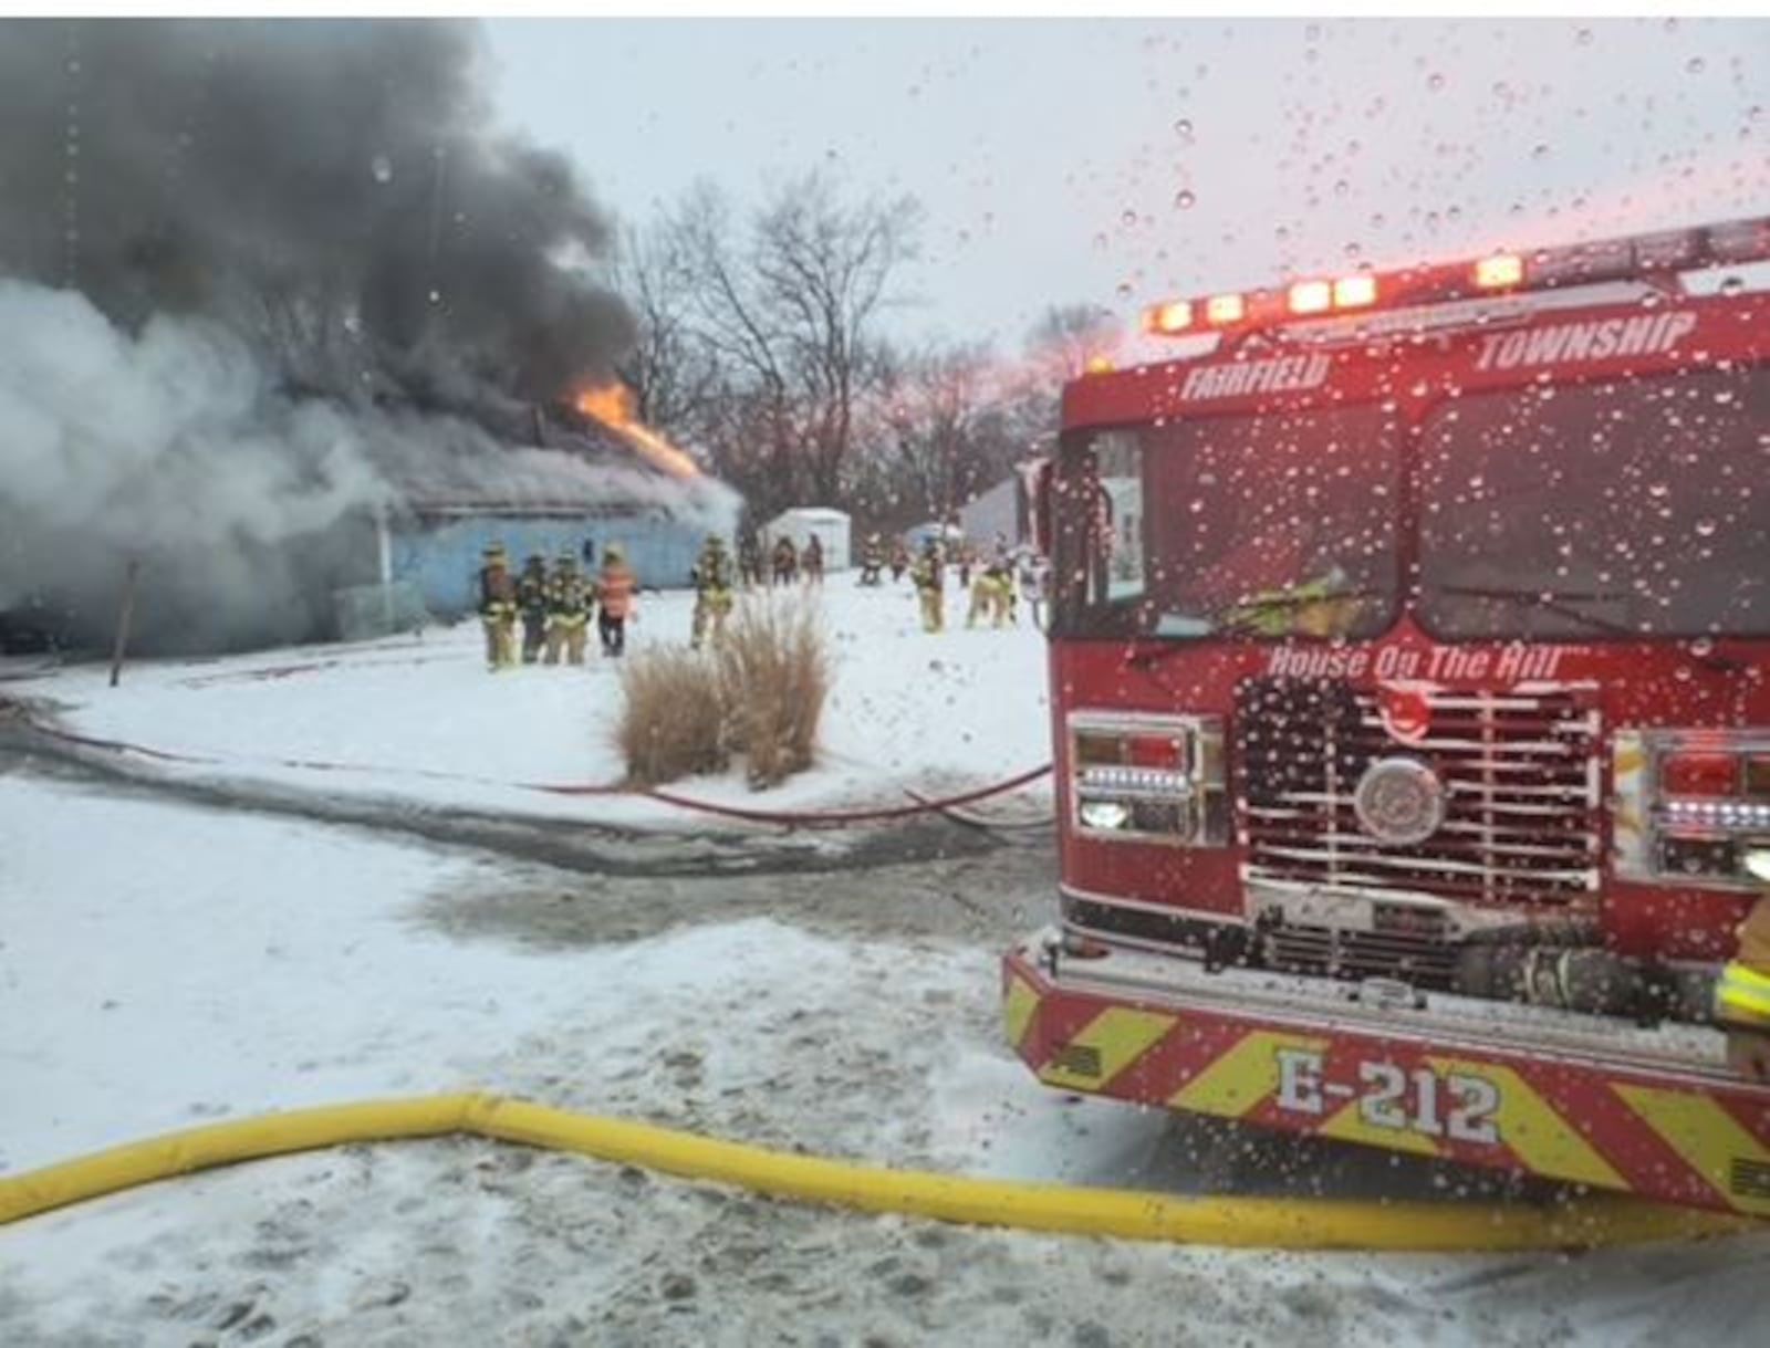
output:
POLYGON ((1043 1081, 1770 1215, 1770 219, 1161 304, 1041 490, 1043 1081))

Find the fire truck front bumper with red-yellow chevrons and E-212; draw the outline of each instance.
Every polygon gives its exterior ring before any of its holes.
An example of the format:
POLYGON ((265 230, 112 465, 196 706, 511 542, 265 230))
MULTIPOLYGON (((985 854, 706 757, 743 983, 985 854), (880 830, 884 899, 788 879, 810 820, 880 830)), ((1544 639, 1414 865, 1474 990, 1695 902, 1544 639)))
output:
POLYGON ((1717 1030, 1083 950, 1053 927, 1002 962, 1053 1088, 1770 1217, 1770 1086, 1717 1030))

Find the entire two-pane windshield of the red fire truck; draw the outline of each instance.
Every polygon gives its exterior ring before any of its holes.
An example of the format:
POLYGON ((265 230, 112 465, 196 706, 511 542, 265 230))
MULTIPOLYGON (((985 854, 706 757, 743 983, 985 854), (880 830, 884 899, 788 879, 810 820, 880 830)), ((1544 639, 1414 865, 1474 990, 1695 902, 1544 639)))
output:
POLYGON ((1770 371, 1533 382, 1416 416, 1073 435, 1053 632, 1370 639, 1418 554, 1411 605, 1444 640, 1770 635, 1770 371))

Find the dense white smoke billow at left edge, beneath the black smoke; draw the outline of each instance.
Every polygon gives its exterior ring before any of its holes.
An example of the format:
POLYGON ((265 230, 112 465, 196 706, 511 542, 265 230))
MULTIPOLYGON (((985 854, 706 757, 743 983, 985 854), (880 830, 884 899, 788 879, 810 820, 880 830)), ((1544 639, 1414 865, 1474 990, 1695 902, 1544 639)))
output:
POLYGON ((161 315, 133 336, 0 280, 0 609, 92 639, 138 563, 165 644, 306 635, 327 568, 290 545, 386 495, 359 426, 281 396, 228 331, 161 315))

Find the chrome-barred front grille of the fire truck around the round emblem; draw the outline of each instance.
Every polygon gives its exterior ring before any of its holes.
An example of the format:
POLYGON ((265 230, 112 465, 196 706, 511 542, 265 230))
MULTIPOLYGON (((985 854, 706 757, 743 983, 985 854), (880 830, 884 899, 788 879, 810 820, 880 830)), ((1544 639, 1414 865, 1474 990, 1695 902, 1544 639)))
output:
POLYGON ((1244 681, 1234 761, 1246 877, 1485 908, 1589 904, 1600 739, 1591 690, 1439 690, 1428 702, 1425 738, 1404 745, 1382 727, 1374 690, 1244 681), (1444 785, 1444 821, 1425 842, 1381 842, 1359 824, 1359 778, 1393 755, 1420 759, 1444 785))

